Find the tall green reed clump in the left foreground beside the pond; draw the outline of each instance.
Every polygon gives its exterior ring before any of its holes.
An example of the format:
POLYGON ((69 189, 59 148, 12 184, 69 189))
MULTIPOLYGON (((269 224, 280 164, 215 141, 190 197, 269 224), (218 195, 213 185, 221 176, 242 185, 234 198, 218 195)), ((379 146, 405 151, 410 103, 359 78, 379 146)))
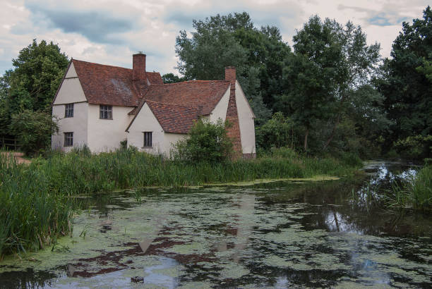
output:
POLYGON ((50 245, 71 232, 71 207, 54 194, 44 172, 0 154, 0 259, 50 245))

